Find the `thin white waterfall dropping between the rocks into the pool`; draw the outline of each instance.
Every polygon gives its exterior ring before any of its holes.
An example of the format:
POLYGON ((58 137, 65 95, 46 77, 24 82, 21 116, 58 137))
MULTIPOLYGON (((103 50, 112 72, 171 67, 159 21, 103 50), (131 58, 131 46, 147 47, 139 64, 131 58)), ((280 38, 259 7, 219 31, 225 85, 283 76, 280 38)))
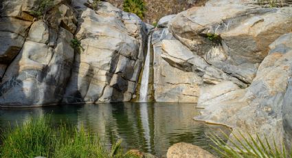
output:
POLYGON ((140 87, 139 102, 147 102, 149 67, 150 67, 150 46, 151 46, 151 35, 148 36, 148 48, 147 48, 147 55, 146 55, 146 60, 144 63, 143 76, 142 76, 141 87, 140 87))

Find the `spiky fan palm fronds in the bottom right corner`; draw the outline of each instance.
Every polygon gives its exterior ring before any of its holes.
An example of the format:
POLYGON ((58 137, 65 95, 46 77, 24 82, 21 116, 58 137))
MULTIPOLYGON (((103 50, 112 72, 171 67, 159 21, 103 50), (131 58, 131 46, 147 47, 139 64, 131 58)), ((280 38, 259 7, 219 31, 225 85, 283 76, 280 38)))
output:
POLYGON ((240 131, 238 133, 238 135, 232 133, 234 141, 223 133, 224 137, 229 139, 231 145, 225 144, 218 135, 212 134, 210 139, 216 146, 211 147, 216 150, 218 155, 226 158, 292 158, 292 150, 287 150, 284 143, 282 146, 277 146, 275 139, 269 140, 266 135, 264 138, 260 138, 258 134, 256 134, 256 137, 253 137, 251 133, 247 133, 247 136, 243 135, 240 131))

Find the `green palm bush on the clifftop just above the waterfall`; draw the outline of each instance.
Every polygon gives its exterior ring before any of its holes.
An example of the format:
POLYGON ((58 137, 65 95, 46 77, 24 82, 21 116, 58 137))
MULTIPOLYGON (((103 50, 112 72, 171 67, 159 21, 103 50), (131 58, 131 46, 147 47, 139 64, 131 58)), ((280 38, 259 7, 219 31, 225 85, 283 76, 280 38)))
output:
POLYGON ((146 10, 143 0, 124 0, 123 8, 125 12, 132 12, 144 19, 144 12, 146 10))

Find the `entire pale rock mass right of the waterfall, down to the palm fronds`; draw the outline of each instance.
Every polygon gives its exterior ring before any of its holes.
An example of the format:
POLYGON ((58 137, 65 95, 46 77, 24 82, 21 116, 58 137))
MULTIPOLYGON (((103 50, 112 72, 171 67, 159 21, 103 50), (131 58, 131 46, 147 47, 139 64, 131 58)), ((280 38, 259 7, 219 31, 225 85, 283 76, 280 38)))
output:
POLYGON ((161 19, 153 33, 155 100, 198 102, 205 109, 196 120, 290 148, 292 8, 229 2, 161 19))

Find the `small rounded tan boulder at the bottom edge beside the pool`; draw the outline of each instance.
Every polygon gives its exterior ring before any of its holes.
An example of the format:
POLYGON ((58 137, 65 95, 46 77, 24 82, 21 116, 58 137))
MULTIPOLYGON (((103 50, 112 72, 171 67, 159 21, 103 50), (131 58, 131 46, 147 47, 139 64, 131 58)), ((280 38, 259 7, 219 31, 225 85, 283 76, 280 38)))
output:
POLYGON ((178 143, 168 148, 167 158, 214 158, 214 155, 199 146, 178 143))

